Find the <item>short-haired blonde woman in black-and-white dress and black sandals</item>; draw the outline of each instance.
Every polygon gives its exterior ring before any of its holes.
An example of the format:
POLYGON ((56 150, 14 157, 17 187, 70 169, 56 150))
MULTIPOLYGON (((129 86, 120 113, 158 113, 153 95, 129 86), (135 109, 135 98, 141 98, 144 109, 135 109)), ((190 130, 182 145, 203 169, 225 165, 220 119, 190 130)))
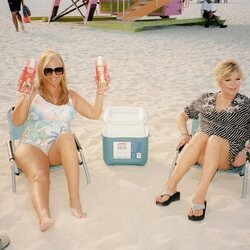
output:
POLYGON ((181 151, 175 171, 156 197, 156 204, 167 206, 180 199, 177 185, 196 162, 202 165, 199 185, 188 212, 189 220, 200 221, 205 217, 206 195, 217 169, 226 170, 242 165, 250 144, 250 100, 239 93, 243 72, 233 59, 218 63, 215 78, 220 91, 206 93, 194 100, 178 117, 181 151), (188 119, 200 120, 198 132, 191 138, 188 119))

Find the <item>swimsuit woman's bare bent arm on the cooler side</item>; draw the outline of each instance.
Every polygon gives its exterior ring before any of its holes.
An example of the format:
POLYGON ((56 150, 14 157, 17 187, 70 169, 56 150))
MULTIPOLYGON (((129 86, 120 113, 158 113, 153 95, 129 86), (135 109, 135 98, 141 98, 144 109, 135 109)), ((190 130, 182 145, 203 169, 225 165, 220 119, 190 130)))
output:
POLYGON ((89 119, 98 119, 102 113, 103 94, 97 93, 95 103, 91 105, 74 90, 69 90, 76 111, 89 119))

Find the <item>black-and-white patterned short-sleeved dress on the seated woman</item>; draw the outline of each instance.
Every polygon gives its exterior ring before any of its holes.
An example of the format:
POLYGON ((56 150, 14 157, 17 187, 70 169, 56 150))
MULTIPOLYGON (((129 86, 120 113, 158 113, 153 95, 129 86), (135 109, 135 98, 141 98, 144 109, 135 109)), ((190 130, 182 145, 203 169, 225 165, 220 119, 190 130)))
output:
POLYGON ((200 119, 198 131, 217 135, 229 142, 229 163, 250 139, 250 99, 238 93, 227 109, 215 109, 218 93, 206 93, 185 107, 190 119, 200 119))

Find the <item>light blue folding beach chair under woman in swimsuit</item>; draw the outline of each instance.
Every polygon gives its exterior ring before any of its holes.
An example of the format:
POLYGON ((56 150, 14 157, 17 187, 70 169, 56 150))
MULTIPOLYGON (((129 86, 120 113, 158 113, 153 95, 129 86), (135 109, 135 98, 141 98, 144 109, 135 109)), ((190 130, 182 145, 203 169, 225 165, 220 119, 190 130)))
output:
MULTIPOLYGON (((17 141, 21 138, 21 135, 26 127, 26 123, 22 124, 21 126, 16 127, 12 123, 12 112, 15 109, 15 107, 12 107, 8 113, 7 113, 7 120, 8 120, 8 126, 9 126, 9 140, 7 141, 7 149, 9 154, 9 161, 11 165, 11 177, 12 177, 12 191, 16 192, 16 175, 19 175, 21 170, 18 169, 16 163, 15 163, 15 145, 17 141)), ((90 183, 90 175, 88 171, 88 167, 83 155, 83 150, 81 147, 80 142, 78 141, 76 135, 72 133, 75 139, 76 148, 78 151, 78 165, 83 167, 84 174, 86 177, 86 183, 87 185, 90 183)), ((62 165, 57 166, 50 166, 50 170, 57 170, 59 168, 62 168, 62 165)))

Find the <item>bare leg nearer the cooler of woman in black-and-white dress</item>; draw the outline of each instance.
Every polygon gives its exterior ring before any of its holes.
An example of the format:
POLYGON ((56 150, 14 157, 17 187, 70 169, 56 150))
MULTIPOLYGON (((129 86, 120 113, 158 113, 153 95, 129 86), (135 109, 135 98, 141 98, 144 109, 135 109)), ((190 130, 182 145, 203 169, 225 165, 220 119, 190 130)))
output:
MULTIPOLYGON (((183 148, 180 153, 173 175, 166 182, 164 189, 176 192, 177 184, 187 171, 198 161, 198 159, 204 154, 208 136, 205 133, 198 132, 190 140, 188 144, 183 148)), ((159 195, 156 197, 156 201, 164 202, 169 199, 169 195, 159 195)))

